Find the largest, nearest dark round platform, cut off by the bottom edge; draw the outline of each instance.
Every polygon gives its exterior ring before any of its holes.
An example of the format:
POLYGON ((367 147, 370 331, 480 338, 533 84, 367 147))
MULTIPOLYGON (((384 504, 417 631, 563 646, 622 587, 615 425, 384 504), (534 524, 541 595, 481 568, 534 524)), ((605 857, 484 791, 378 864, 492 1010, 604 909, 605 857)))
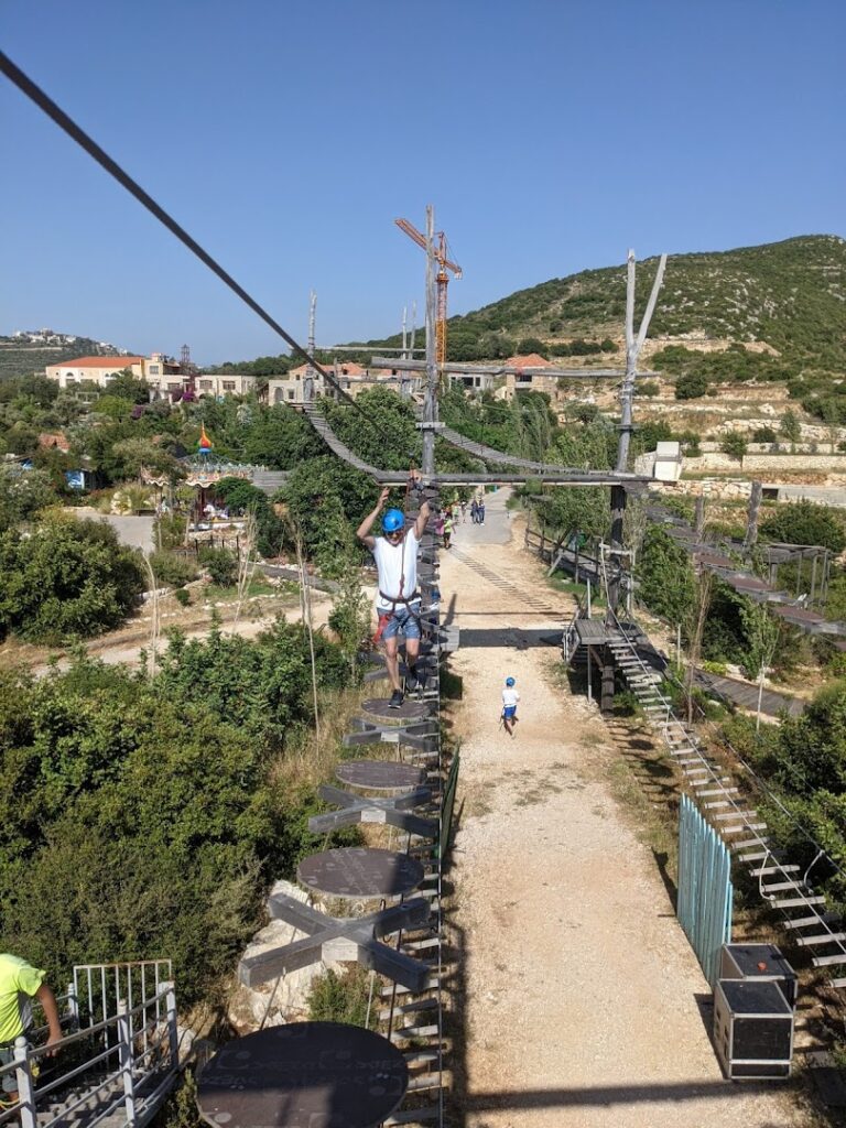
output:
POLYGON ((213 1128, 373 1128, 408 1089, 387 1038, 341 1022, 291 1022, 218 1050, 197 1087, 213 1128))

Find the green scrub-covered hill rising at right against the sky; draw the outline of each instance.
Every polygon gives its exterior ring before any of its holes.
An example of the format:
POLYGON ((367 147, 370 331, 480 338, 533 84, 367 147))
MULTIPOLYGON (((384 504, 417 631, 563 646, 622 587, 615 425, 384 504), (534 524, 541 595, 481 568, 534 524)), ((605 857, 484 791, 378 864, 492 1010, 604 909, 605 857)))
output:
MULTIPOLYGON (((636 319, 656 267, 655 258, 638 264, 636 319)), ((625 297, 625 265, 550 279, 450 318, 450 359, 508 356, 522 351, 521 342, 527 341, 541 343, 550 355, 599 355, 608 352, 608 338, 620 337, 625 297)), ((671 255, 650 336, 761 342, 793 365, 841 370, 846 240, 802 236, 759 247, 671 255)), ((400 341, 369 344, 379 343, 400 341)))

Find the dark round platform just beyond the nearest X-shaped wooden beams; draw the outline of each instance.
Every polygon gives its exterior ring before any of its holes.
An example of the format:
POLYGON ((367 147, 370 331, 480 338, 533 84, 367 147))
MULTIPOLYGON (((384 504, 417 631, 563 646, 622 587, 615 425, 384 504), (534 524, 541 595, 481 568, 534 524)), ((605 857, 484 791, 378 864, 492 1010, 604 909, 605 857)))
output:
POLYGON ((399 897, 421 883, 423 866, 396 851, 347 846, 303 858, 297 878, 307 889, 331 897, 399 897))

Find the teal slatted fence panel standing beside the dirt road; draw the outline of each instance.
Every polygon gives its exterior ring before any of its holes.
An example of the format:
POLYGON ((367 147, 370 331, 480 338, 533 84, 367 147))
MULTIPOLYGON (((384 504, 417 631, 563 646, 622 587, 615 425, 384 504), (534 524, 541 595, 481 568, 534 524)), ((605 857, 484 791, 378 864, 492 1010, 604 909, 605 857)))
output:
POLYGON ((731 855, 694 802, 679 808, 679 896, 677 916, 713 987, 720 949, 731 941, 731 855))

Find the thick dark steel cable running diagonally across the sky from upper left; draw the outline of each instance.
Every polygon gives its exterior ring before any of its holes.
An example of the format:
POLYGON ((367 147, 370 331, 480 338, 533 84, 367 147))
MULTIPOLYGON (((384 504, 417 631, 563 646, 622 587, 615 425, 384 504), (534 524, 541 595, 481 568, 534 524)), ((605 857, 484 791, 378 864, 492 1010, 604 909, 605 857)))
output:
POLYGON ((9 79, 10 82, 14 82, 14 85, 23 94, 25 94, 27 98, 34 102, 39 109, 43 109, 47 117, 55 122, 55 124, 63 130, 68 136, 72 138, 77 144, 80 146, 80 148, 85 149, 89 157, 92 157, 98 165, 105 168, 105 170, 117 180, 118 184, 122 184, 123 187, 139 201, 139 203, 143 204, 143 206, 151 212, 156 219, 168 229, 168 231, 176 236, 179 243, 184 244, 188 250, 193 252, 193 254, 195 254, 196 257, 209 267, 210 271, 217 274, 221 282, 224 282, 233 293, 238 294, 241 301, 246 302, 255 314, 258 314, 262 320, 270 325, 274 333, 277 333, 298 355, 302 356, 307 363, 311 364, 320 373, 320 376, 332 385, 338 396, 355 408, 355 411, 363 420, 367 421, 368 425, 371 426, 373 431, 378 431, 380 439, 384 438, 381 430, 369 417, 367 412, 362 407, 359 407, 352 396, 349 396, 344 391, 338 381, 333 376, 329 376, 323 365, 319 364, 315 358, 302 347, 302 345, 298 344, 290 333, 287 333, 279 321, 271 317, 266 309, 259 306, 255 298, 248 294, 244 287, 239 285, 231 274, 228 274, 227 271, 224 271, 223 267, 200 246, 196 239, 193 239, 188 235, 185 228, 180 227, 171 215, 168 215, 165 209, 159 206, 152 196, 144 192, 141 185, 133 180, 129 173, 125 173, 121 168, 117 161, 113 160, 108 153, 85 132, 85 130, 80 129, 79 125, 77 125, 77 123, 69 117, 68 114, 65 114, 64 111, 53 102, 52 98, 47 97, 41 87, 36 86, 36 83, 33 82, 33 80, 28 78, 19 67, 16 67, 11 59, 3 54, 2 51, 0 51, 0 71, 9 79))

